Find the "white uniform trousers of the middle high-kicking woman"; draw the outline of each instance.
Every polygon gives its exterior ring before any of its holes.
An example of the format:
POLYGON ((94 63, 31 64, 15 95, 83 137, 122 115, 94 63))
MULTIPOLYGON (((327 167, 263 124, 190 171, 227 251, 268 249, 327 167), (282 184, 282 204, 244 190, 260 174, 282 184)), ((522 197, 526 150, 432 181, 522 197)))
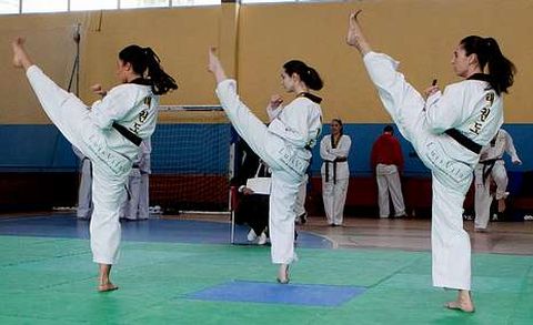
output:
POLYGON ((272 263, 290 264, 294 253, 295 202, 304 180, 309 159, 304 149, 285 143, 271 133, 266 125, 244 105, 235 92, 235 84, 225 80, 219 83, 220 103, 239 135, 272 169, 269 232, 272 243, 272 263))

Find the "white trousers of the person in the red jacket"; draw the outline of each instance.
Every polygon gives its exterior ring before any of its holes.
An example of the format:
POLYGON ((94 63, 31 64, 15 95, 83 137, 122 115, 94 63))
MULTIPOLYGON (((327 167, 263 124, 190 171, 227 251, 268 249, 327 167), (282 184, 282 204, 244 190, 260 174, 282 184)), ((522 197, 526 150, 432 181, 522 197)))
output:
POLYGON ((405 204, 403 203, 402 183, 396 165, 378 164, 375 166, 375 180, 378 181, 378 205, 380 206, 380 217, 389 217, 390 204, 389 193, 394 206, 394 216, 405 214, 405 204))

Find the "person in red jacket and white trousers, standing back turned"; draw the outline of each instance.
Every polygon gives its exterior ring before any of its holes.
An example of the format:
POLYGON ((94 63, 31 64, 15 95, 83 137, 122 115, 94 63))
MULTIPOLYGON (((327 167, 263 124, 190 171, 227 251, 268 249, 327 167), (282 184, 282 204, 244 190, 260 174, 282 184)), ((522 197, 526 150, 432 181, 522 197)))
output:
POLYGON ((402 184, 400 173, 403 169, 403 155, 400 141, 394 138, 391 125, 383 129, 383 134, 378 138, 372 146, 371 163, 378 181, 378 203, 380 217, 389 217, 389 193, 391 193, 394 216, 405 216, 402 184))

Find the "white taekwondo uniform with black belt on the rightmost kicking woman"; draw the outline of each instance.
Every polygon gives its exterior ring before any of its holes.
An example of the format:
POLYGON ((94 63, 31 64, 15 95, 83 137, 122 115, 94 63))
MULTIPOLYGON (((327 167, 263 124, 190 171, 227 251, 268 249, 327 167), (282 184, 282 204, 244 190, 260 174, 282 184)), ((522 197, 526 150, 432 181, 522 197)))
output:
POLYGON ((463 228, 463 202, 481 146, 503 123, 503 100, 481 73, 424 100, 389 55, 369 52, 363 61, 385 110, 432 172, 433 285, 470 291, 471 246, 463 228))

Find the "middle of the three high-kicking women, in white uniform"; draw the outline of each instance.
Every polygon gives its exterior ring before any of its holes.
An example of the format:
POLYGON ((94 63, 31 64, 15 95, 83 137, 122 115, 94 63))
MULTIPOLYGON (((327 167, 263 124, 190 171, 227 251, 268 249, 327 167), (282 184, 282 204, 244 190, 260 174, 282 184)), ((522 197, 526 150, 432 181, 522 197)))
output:
POLYGON ((217 94, 228 118, 239 135, 271 167, 269 231, 272 243, 272 262, 279 264, 278 282, 289 283, 289 265, 294 253, 294 204, 305 170, 311 160, 311 149, 322 129, 321 99, 309 90, 322 89, 316 71, 301 61, 289 61, 281 73, 282 84, 295 99, 285 106, 279 97, 271 99, 274 119, 269 124, 259 120, 237 94, 237 83, 225 77, 213 52, 209 52, 209 70, 217 81, 217 94))

